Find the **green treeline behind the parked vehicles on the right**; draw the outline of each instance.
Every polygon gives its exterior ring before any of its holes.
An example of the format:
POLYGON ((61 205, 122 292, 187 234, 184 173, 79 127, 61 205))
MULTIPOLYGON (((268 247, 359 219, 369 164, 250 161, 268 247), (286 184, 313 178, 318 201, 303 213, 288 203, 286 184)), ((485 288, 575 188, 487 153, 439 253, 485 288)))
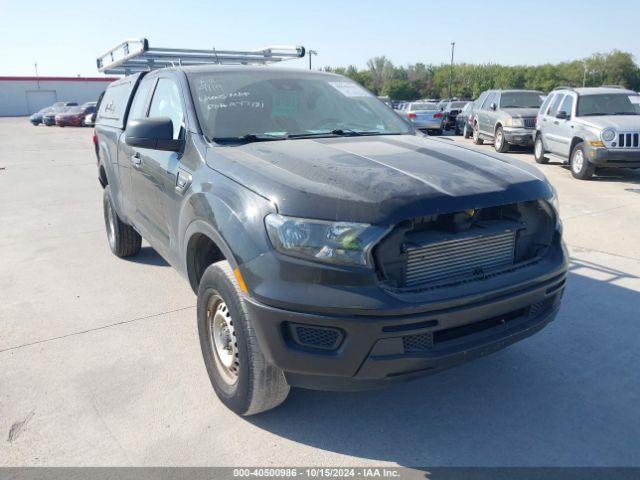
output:
MULTIPOLYGON (((367 62, 367 68, 325 68, 340 73, 367 87, 376 95, 394 100, 445 98, 449 95, 449 65, 395 66, 382 56, 367 62)), ((527 88, 548 92, 559 85, 574 87, 622 85, 640 90, 640 69, 627 52, 613 50, 596 53, 583 60, 536 66, 496 64, 453 66, 452 95, 477 98, 490 88, 527 88)))

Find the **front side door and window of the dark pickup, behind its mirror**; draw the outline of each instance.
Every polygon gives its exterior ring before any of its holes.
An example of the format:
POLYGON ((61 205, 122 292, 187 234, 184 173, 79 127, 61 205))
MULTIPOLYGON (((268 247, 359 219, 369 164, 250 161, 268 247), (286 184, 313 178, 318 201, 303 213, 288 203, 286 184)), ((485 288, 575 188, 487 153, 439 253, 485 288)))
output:
MULTIPOLYGON (((149 118, 169 117, 173 123, 173 138, 184 138, 184 102, 178 84, 160 77, 149 105, 149 118)), ((131 188, 135 198, 136 225, 165 258, 171 257, 175 240, 167 215, 166 201, 173 195, 182 154, 149 148, 132 148, 131 188)))

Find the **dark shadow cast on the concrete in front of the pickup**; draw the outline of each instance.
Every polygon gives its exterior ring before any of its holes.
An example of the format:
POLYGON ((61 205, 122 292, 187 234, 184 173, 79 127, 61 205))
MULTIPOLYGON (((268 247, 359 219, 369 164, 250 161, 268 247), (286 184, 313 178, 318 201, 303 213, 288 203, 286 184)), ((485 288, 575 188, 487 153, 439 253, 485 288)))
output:
POLYGON ((556 320, 507 350, 386 390, 296 389, 247 421, 353 465, 638 466, 639 311, 637 276, 575 259, 556 320))

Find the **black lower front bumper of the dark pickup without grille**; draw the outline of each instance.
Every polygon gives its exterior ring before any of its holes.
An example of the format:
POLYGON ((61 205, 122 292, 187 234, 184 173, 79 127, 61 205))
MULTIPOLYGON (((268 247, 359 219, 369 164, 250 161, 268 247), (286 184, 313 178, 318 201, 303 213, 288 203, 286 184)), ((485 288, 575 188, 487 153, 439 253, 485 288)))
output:
POLYGON ((412 315, 316 315, 246 299, 268 362, 292 386, 366 390, 458 365, 511 345, 551 322, 566 266, 482 301, 412 315), (301 330, 300 330, 301 329, 301 330))

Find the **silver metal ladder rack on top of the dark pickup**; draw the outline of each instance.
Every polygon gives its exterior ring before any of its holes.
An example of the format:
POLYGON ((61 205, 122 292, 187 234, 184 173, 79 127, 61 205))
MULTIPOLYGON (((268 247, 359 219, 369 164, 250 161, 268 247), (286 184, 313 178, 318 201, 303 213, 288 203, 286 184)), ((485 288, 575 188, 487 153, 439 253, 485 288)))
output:
POLYGON ((305 49, 301 46, 277 45, 259 50, 188 50, 184 48, 151 48, 146 38, 129 39, 119 43, 103 55, 96 63, 98 71, 105 74, 130 75, 165 67, 226 64, 255 65, 302 58, 305 49))

